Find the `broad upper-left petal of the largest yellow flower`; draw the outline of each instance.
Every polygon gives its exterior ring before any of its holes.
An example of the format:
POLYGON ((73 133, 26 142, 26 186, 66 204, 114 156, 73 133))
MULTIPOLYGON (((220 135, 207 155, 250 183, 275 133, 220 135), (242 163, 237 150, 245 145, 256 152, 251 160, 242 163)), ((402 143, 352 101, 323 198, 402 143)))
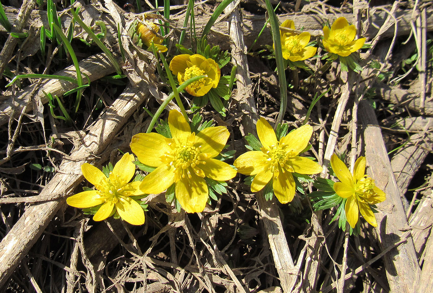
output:
POLYGON ((152 167, 161 165, 160 157, 171 150, 159 133, 138 133, 132 137, 129 146, 141 163, 152 167))

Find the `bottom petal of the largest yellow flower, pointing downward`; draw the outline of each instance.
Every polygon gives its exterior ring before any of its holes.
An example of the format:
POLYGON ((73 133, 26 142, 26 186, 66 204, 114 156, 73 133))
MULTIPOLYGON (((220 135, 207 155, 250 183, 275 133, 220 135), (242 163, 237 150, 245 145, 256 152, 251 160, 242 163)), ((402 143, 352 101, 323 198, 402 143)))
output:
POLYGON ((203 212, 209 190, 203 178, 191 173, 191 178, 182 178, 176 182, 176 199, 187 213, 203 212))

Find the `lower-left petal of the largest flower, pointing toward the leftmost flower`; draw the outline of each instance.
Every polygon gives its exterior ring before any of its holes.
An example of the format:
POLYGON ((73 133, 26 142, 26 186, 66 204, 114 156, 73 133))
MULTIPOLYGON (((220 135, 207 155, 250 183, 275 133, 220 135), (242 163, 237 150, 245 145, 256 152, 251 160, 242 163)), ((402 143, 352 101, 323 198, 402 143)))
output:
POLYGON ((161 165, 144 177, 140 189, 147 194, 158 194, 168 189, 174 183, 174 168, 161 165))

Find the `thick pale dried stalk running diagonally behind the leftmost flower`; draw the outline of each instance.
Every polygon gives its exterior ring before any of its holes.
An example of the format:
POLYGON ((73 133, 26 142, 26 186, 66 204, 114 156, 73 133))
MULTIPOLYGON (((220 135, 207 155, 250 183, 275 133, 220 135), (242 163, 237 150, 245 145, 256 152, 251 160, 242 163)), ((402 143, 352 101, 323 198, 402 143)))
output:
POLYGON ((0 288, 5 285, 19 262, 36 243, 58 209, 65 204, 66 195, 83 180, 81 165, 90 163, 106 150, 110 151, 107 149, 110 141, 147 98, 149 92, 145 85, 142 88, 126 88, 90 128, 89 133, 81 141, 82 144, 75 146, 71 159, 62 161, 58 173, 40 193, 41 196, 50 195, 57 200, 29 206, 0 243, 0 288))

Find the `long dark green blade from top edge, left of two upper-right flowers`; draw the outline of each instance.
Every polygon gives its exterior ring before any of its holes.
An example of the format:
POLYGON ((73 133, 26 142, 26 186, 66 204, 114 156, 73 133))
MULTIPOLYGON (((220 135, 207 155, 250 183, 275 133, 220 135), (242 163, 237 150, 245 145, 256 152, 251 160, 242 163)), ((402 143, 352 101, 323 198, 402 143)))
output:
POLYGON ((265 0, 266 10, 268 10, 269 23, 271 24, 272 39, 274 40, 275 47, 275 61, 277 62, 278 80, 280 82, 280 112, 278 113, 275 127, 283 121, 284 114, 286 113, 287 107, 287 85, 286 85, 286 73, 283 59, 283 51, 281 50, 281 39, 280 39, 280 23, 278 22, 277 16, 275 15, 274 9, 272 8, 271 2, 265 0))

